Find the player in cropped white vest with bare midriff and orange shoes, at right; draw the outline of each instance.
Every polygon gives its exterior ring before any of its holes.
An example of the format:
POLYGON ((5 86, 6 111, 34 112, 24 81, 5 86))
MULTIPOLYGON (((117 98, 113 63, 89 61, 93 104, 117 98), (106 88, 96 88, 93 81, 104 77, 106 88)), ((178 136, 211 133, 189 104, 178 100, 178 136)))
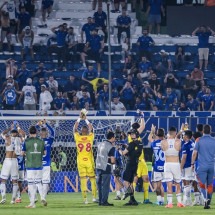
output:
POLYGON ((168 131, 168 138, 161 141, 161 149, 164 151, 164 177, 167 182, 167 205, 166 208, 173 208, 172 204, 172 187, 173 181, 176 186, 177 206, 184 207, 181 203, 181 168, 179 163, 179 151, 181 150, 181 141, 176 138, 177 132, 175 127, 168 131))

